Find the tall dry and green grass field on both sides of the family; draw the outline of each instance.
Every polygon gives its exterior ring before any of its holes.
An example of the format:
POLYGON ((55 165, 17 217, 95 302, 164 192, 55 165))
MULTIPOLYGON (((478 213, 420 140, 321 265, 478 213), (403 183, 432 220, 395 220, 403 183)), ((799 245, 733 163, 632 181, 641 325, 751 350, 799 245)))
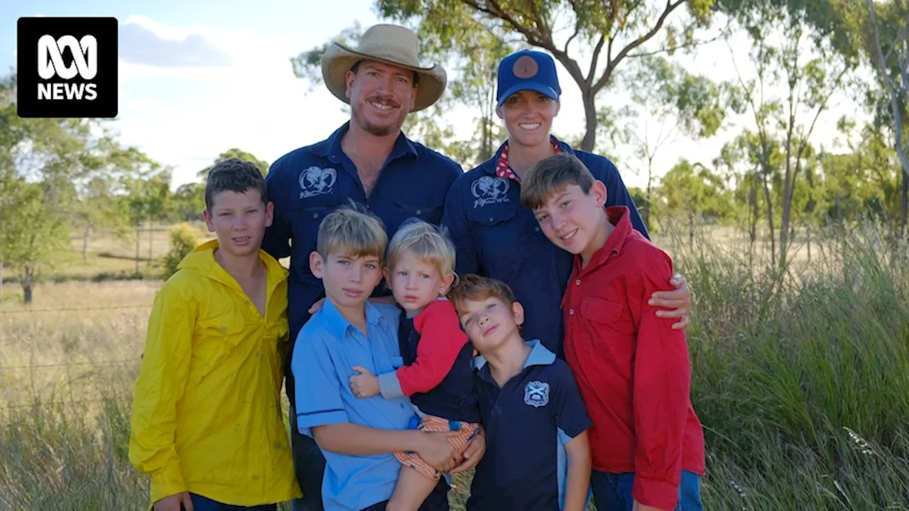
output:
MULTIPOLYGON (((810 265, 800 256, 778 271, 736 239, 657 238, 694 290, 705 508, 909 510, 909 241, 834 233, 815 242, 810 265)), ((130 242, 93 243, 85 275, 115 271, 121 259, 101 253, 135 254, 130 242)), ((46 281, 29 308, 5 285, 0 509, 145 506, 128 417, 160 284, 46 281), (69 310, 82 308, 100 310, 69 310)), ((456 486, 462 509, 469 480, 456 486)))

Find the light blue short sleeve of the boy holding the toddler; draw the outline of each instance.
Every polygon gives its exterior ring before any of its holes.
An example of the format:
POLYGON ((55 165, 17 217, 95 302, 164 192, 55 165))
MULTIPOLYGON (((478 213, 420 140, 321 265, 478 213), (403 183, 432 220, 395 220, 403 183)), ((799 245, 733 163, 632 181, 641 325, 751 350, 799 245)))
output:
POLYGON ((300 330, 294 344, 291 370, 295 383, 296 427, 301 435, 313 436, 314 426, 350 422, 343 389, 328 352, 324 332, 300 330))

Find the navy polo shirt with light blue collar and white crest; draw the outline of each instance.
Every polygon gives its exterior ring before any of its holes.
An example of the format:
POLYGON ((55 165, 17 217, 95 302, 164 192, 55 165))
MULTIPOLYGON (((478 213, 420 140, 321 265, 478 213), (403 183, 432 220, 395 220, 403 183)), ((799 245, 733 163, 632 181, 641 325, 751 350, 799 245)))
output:
POLYGON ((593 426, 564 360, 539 340, 524 369, 504 386, 476 358, 476 395, 486 452, 476 466, 467 511, 558 511, 564 505, 564 444, 593 426))

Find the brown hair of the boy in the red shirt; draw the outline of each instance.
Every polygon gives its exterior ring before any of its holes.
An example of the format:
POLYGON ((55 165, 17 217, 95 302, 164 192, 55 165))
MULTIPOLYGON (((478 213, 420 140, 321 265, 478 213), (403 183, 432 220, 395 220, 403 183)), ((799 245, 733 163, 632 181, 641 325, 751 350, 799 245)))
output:
POLYGON ((584 194, 594 185, 594 175, 577 156, 558 153, 534 164, 521 181, 521 204, 536 209, 567 186, 578 185, 584 194))

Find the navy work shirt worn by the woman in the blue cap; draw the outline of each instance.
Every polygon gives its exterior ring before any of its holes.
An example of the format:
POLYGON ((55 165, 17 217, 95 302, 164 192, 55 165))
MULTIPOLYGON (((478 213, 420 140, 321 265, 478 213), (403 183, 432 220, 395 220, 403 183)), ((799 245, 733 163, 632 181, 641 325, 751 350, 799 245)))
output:
MULTIPOLYGON (((600 155, 573 153, 606 185, 606 206, 626 205, 631 222, 645 236, 647 229, 615 165, 600 155)), ((524 338, 540 339, 560 358, 562 296, 571 276, 574 255, 553 245, 536 222, 534 212, 521 205, 521 185, 497 177, 495 165, 502 147, 484 164, 459 177, 445 199, 442 223, 457 248, 458 275, 480 274, 503 281, 524 306, 524 338)))

